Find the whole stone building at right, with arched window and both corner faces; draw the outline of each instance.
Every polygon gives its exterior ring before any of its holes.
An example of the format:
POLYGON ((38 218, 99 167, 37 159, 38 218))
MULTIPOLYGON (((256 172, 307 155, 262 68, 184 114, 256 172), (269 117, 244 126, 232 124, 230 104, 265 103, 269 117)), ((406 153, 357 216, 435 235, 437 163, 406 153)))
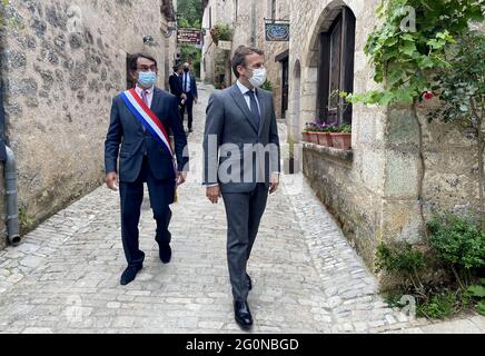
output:
POLYGON ((352 123, 352 150, 304 144, 303 165, 318 197, 367 265, 374 269, 380 241, 419 243, 433 209, 476 214, 479 185, 473 137, 442 123, 429 125, 422 112, 423 174, 419 126, 409 108, 346 107, 331 96, 335 89, 376 88, 364 46, 380 1, 290 3, 289 132, 298 141, 306 122, 352 123))

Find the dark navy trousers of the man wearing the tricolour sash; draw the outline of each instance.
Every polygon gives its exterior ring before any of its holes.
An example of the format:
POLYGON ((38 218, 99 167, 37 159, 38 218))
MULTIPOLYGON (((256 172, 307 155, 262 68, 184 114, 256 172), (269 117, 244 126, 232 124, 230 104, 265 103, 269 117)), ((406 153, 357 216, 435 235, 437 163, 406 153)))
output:
POLYGON ((169 204, 174 197, 174 181, 157 180, 151 174, 147 157, 143 158, 140 174, 133 182, 120 181, 121 198, 121 238, 128 265, 141 265, 145 254, 139 248, 139 229, 141 204, 143 201, 143 182, 147 182, 154 219, 157 221, 156 241, 159 246, 171 241, 168 230, 171 220, 169 204))

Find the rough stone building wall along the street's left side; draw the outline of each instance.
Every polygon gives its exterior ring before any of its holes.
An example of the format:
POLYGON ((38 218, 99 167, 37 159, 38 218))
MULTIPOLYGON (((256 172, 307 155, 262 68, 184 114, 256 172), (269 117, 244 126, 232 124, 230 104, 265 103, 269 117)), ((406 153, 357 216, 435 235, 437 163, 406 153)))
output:
POLYGON ((127 59, 155 56, 165 87, 176 36, 164 32, 174 7, 171 0, 12 0, 2 4, 2 19, 6 136, 26 230, 103 181, 111 98, 129 85, 127 59))

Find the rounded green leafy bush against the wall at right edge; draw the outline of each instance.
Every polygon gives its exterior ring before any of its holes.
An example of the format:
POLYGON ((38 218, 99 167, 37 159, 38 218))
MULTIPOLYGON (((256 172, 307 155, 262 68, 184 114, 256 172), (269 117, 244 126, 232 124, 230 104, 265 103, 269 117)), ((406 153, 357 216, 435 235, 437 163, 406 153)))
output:
POLYGON ((485 267, 485 231, 471 218, 435 216, 428 229, 429 244, 445 265, 464 269, 485 267))

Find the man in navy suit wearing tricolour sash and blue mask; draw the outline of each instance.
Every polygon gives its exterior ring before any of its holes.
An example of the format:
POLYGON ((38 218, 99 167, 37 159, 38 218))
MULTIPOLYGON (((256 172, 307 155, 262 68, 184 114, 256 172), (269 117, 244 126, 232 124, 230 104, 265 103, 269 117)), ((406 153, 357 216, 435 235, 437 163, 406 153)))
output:
POLYGON ((143 182, 148 185, 150 205, 157 221, 159 256, 164 264, 168 264, 171 258, 169 206, 175 200, 176 186, 185 182, 188 170, 188 157, 184 156, 187 137, 180 122, 177 98, 155 87, 157 61, 147 55, 135 55, 130 61, 130 72, 137 82, 131 98, 139 96, 138 100, 151 109, 165 130, 170 130, 174 135, 177 169, 170 150, 162 147, 131 111, 125 100, 126 92, 115 97, 105 142, 105 166, 108 188, 119 190, 121 198, 121 235, 128 261, 120 279, 121 285, 132 281, 143 265, 145 254, 139 249, 138 231, 143 182))

